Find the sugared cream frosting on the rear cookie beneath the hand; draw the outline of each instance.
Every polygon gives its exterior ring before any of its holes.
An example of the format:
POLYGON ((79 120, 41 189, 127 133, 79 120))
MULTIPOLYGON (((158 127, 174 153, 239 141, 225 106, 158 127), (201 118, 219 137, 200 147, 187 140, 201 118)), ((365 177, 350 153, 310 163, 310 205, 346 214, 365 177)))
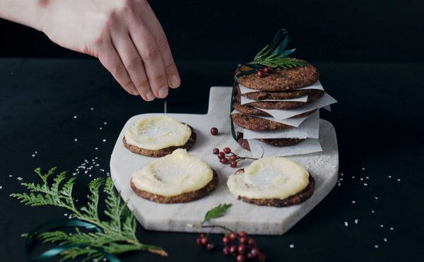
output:
POLYGON ((167 116, 146 117, 125 132, 126 143, 148 150, 181 146, 192 136, 192 129, 167 116))

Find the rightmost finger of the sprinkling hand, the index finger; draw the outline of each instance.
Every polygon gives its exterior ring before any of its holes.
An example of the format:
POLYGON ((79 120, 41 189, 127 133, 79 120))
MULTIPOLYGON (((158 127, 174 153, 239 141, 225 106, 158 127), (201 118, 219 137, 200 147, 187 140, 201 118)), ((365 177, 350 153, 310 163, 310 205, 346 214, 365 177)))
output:
POLYGON ((181 80, 179 78, 177 66, 175 66, 174 59, 172 58, 170 45, 167 42, 165 32, 163 32, 162 25, 160 25, 158 18, 156 18, 155 13, 147 1, 146 6, 144 6, 144 8, 139 8, 139 10, 141 12, 141 19, 146 24, 148 30, 152 32, 153 37, 155 37, 158 44, 160 56, 165 66, 168 86, 170 88, 178 88, 181 84, 181 80))

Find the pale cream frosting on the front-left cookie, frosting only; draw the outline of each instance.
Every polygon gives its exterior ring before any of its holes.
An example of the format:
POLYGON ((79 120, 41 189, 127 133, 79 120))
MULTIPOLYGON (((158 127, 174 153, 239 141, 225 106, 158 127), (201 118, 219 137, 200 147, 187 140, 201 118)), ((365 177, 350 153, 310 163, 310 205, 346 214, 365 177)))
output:
POLYGON ((212 169, 206 162, 179 148, 136 170, 131 181, 143 191, 160 196, 177 196, 201 189, 212 177, 212 169))

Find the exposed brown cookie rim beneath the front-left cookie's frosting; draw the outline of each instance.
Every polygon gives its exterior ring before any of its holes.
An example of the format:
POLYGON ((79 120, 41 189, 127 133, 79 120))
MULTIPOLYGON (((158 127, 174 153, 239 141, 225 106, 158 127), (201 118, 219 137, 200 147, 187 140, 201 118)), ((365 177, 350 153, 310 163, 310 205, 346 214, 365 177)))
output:
POLYGON ((165 204, 171 204, 171 203, 186 203, 190 201, 194 201, 196 199, 199 199, 201 197, 206 196, 208 193, 211 193, 211 191, 216 189, 216 186, 218 186, 218 174, 216 174, 216 171, 212 169, 213 177, 212 180, 209 181, 206 186, 202 187, 199 190, 182 193, 178 196, 161 196, 155 193, 150 193, 148 191, 143 191, 136 188, 136 185, 130 181, 131 189, 136 192, 137 195, 141 196, 142 198, 145 198, 147 200, 157 202, 157 203, 165 203, 165 204))

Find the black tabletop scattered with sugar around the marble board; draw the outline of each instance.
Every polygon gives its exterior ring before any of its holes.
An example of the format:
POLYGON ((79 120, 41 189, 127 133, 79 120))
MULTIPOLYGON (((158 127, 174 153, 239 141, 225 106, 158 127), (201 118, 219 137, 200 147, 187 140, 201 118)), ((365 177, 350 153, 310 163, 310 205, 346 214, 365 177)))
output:
MULTIPOLYGON (((231 85, 237 63, 177 64, 182 87, 170 92, 168 112, 204 114, 209 88, 231 85)), ((291 230, 257 236, 258 245, 268 261, 418 261, 424 255, 424 65, 316 66, 338 100, 322 118, 336 128, 340 181, 291 230)), ((0 261, 27 261, 20 234, 66 211, 23 206, 8 195, 22 192, 23 181, 37 181, 35 167, 72 173, 95 160, 98 167, 77 175, 75 193, 83 199, 88 181, 107 176, 126 120, 163 112, 163 102, 127 95, 95 60, 0 59, 0 80, 0 261)), ((137 236, 162 246, 169 258, 140 251, 119 256, 122 261, 234 261, 199 249, 197 234, 139 226, 137 236)), ((213 238, 220 242, 220 235, 213 238)))

